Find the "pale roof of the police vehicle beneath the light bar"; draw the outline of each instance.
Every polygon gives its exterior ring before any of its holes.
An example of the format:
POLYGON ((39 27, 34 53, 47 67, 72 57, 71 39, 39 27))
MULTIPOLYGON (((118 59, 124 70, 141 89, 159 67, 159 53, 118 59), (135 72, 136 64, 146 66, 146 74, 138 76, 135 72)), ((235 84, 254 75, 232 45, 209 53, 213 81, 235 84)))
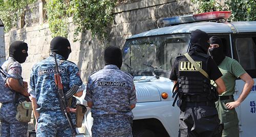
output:
MULTIPOLYGON (((230 22, 238 33, 256 32, 256 21, 238 21, 230 22)), ((230 26, 226 23, 217 22, 194 22, 185 23, 173 26, 167 26, 164 28, 154 29, 140 34, 131 36, 128 39, 138 38, 138 37, 148 37, 156 35, 166 35, 166 34, 182 34, 191 33, 191 31, 202 30, 206 33, 233 33, 230 26)))

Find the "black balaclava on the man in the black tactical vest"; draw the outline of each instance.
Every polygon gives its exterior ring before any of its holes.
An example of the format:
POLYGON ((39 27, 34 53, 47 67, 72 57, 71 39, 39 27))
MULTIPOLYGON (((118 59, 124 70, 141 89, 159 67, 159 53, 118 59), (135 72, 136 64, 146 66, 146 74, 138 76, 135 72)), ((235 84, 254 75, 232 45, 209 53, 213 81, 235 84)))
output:
POLYGON ((207 54, 209 48, 209 36, 207 33, 196 30, 191 32, 191 47, 190 50, 195 50, 197 52, 202 52, 207 54))

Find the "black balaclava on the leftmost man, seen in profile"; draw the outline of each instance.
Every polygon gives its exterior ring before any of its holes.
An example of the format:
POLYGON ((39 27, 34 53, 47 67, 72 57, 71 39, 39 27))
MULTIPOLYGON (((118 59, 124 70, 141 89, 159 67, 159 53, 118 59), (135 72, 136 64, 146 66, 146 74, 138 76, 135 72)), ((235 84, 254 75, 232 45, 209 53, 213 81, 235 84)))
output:
POLYGON ((14 41, 10 45, 9 56, 19 63, 24 63, 28 57, 28 44, 23 41, 14 41))

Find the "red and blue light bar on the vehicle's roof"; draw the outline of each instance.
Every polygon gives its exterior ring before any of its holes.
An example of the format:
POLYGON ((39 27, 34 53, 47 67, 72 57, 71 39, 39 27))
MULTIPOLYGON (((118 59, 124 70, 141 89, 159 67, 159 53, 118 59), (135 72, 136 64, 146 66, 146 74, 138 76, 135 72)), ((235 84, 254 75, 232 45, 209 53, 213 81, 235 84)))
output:
POLYGON ((194 14, 194 15, 164 18, 163 23, 166 25, 174 25, 174 24, 206 21, 206 20, 214 20, 214 19, 222 19, 222 18, 227 19, 230 16, 231 16, 231 12, 229 11, 214 11, 214 12, 206 12, 206 13, 200 13, 200 14, 194 14))

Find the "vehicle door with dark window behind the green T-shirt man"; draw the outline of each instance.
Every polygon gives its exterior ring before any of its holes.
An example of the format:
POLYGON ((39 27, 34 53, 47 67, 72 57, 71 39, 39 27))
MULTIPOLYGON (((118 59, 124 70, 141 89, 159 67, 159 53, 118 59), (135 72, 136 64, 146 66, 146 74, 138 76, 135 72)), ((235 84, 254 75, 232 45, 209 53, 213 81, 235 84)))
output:
MULTIPOLYGON (((256 81, 256 33, 232 34, 232 57, 236 59, 246 72, 256 81)), ((236 80, 234 98, 237 99, 241 94, 244 81, 236 80)), ((256 84, 256 82, 255 82, 256 84)), ((256 134, 256 86, 252 87, 250 94, 241 103, 236 111, 238 116, 240 136, 255 136, 256 134)))

